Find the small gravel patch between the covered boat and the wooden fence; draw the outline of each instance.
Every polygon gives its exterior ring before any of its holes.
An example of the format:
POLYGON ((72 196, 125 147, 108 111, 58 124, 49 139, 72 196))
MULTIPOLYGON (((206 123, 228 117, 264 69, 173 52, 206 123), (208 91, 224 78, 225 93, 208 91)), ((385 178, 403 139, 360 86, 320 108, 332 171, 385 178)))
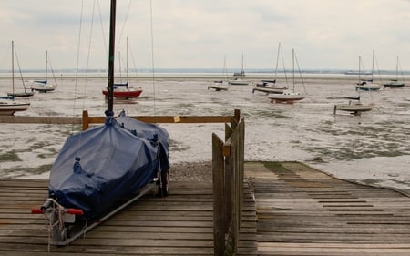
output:
POLYGON ((171 163, 170 180, 175 181, 212 181, 211 161, 171 163))

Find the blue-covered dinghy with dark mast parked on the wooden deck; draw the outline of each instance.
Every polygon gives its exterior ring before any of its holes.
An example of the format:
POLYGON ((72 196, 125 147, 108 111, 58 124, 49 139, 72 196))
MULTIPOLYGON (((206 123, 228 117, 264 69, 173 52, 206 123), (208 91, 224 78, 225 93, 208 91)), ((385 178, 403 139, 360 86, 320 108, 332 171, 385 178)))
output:
POLYGON ((124 111, 114 117, 115 13, 111 0, 105 124, 67 138, 50 171, 49 198, 32 210, 45 214, 52 244, 67 245, 156 186, 161 196, 169 189, 167 130, 124 111))

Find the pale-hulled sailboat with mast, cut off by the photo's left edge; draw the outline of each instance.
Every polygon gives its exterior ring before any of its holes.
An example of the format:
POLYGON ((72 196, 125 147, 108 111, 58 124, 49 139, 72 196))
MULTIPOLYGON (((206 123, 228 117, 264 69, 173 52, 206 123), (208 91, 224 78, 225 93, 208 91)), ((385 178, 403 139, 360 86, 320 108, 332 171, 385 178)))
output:
POLYGON ((13 93, 0 97, 0 115, 13 116, 16 111, 25 111, 30 107, 29 102, 15 101, 15 43, 12 41, 12 84, 13 93))

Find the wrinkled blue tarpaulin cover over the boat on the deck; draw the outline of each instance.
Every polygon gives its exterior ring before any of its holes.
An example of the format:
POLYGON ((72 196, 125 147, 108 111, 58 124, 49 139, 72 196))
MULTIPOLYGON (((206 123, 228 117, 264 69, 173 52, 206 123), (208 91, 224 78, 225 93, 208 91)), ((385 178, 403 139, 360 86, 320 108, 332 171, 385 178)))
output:
POLYGON ((50 172, 49 196, 82 209, 82 220, 101 217, 169 169, 169 134, 158 125, 120 114, 67 138, 50 172))

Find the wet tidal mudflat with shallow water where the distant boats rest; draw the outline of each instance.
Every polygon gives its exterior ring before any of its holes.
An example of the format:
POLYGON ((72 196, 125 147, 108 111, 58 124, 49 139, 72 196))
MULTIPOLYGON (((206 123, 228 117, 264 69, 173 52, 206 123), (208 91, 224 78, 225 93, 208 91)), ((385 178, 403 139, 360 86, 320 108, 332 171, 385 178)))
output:
MULTIPOLYGON (((304 79, 308 97, 293 105, 272 104, 251 86, 228 91, 208 90, 211 79, 143 78, 132 103, 115 102, 115 111, 130 116, 232 115, 245 118, 246 160, 297 160, 343 179, 410 189, 410 87, 362 92, 375 109, 361 116, 333 115, 345 96, 356 96, 354 81, 346 77, 304 79)), ((282 82, 282 81, 279 81, 282 82)), ((20 116, 103 116, 101 90, 107 80, 59 80, 55 92, 36 93, 20 116)), ((3 90, 3 88, 1 88, 3 90)), ((303 90, 301 84, 297 90, 303 90)), ((211 159, 211 134, 223 138, 222 124, 164 124, 171 138, 170 162, 211 159)), ((47 177, 59 148, 77 126, 2 124, 0 177, 47 177)))

